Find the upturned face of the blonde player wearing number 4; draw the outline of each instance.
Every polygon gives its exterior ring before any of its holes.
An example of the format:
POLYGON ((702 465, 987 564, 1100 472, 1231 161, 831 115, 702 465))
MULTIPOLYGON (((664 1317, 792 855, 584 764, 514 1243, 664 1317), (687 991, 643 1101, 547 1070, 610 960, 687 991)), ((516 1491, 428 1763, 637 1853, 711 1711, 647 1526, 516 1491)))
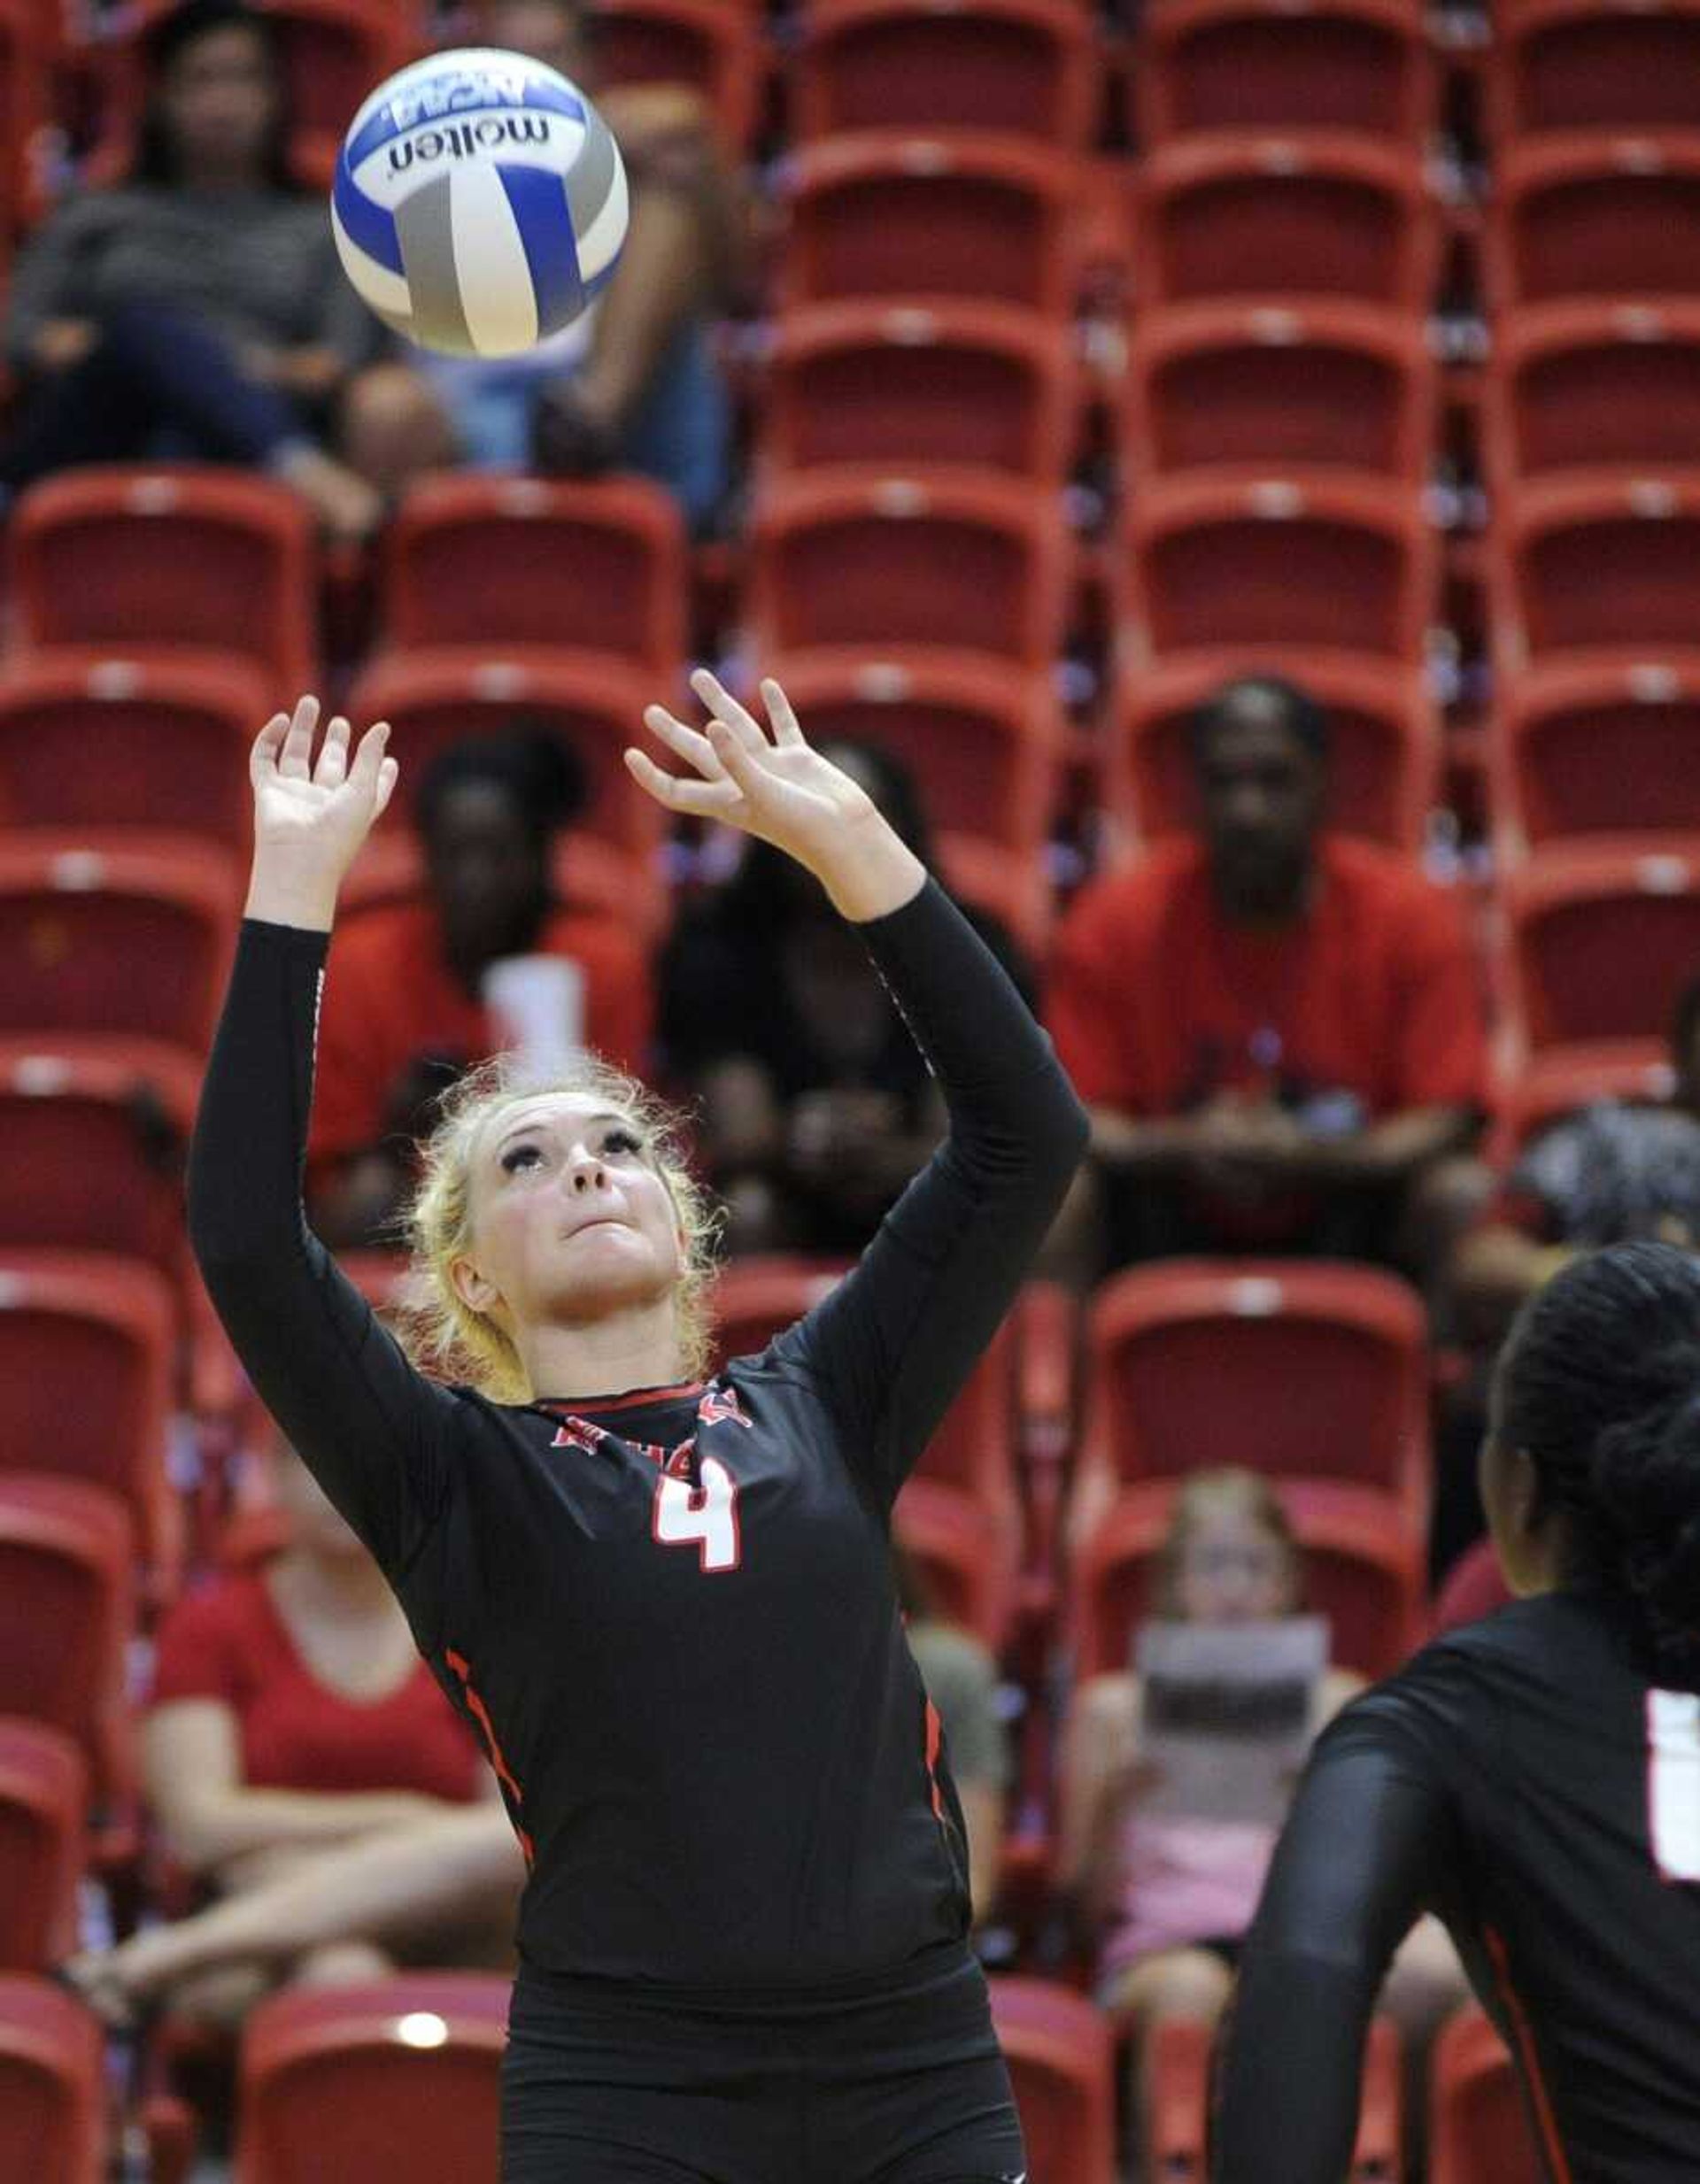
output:
POLYGON ((516 1101, 472 1164, 472 1251, 498 1326, 588 1324, 666 1297, 684 1269, 673 1199, 629 1116, 577 1094, 516 1101))

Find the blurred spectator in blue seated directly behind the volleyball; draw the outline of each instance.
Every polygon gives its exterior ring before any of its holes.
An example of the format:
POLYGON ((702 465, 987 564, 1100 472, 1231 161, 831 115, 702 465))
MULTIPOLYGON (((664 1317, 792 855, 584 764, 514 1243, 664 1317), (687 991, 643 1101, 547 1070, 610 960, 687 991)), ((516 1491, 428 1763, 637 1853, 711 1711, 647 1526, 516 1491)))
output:
POLYGON ((481 465, 638 470, 704 531, 725 500, 732 439, 706 321, 745 280, 749 242, 712 114, 682 83, 599 90, 594 24, 577 0, 489 0, 476 24, 476 44, 594 94, 625 159, 631 227, 605 293, 551 341, 513 358, 424 360, 454 439, 481 465))

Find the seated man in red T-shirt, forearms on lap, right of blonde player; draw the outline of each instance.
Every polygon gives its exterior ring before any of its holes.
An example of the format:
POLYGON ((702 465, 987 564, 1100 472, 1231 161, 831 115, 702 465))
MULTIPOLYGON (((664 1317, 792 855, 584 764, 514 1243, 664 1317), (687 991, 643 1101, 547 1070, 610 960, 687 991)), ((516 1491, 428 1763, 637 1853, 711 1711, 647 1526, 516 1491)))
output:
POLYGON ((1195 841, 1088 882, 1047 1000, 1093 1112, 1051 1238, 1075 1282, 1176 1251, 1403 1241, 1484 1099, 1477 970, 1414 863, 1326 832, 1329 723, 1250 675, 1197 714, 1195 841))

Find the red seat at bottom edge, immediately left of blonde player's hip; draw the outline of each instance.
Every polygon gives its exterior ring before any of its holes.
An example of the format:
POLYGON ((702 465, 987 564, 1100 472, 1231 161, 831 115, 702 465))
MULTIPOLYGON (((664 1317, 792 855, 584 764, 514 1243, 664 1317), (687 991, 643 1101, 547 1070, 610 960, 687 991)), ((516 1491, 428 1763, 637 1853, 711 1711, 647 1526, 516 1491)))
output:
POLYGON ((243 2027, 240 2184, 494 2184, 509 1981, 286 1987, 243 2027))

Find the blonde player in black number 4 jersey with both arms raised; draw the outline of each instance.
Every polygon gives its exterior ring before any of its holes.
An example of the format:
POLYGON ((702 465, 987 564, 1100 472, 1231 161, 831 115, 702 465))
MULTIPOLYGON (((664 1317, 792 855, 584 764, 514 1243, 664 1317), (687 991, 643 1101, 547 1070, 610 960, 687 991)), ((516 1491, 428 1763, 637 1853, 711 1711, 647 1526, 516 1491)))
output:
MULTIPOLYGON (((306 1227, 339 882, 396 784, 317 705, 253 747, 256 850, 190 1162, 253 1385, 476 1725, 531 1867, 507 2184, 1003 2184, 1025 2173, 968 1948, 961 1808, 902 1636, 892 1503, 1007 1310, 1086 1116, 1003 972, 763 686, 647 723, 671 810, 795 856, 951 1109, 861 1265, 701 1380, 704 1223, 640 1088, 481 1083, 424 1256, 472 1378, 422 1378, 306 1227)), ((334 976, 334 970, 332 970, 334 976)))

